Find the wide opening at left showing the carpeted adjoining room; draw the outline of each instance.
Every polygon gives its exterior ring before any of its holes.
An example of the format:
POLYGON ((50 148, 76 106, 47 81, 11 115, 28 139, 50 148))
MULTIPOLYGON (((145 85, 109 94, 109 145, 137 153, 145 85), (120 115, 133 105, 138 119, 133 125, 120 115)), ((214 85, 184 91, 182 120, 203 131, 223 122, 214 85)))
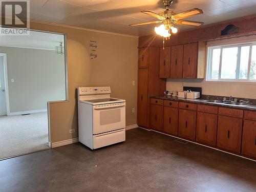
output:
POLYGON ((0 160, 49 149, 48 109, 66 100, 65 35, 0 38, 0 160))

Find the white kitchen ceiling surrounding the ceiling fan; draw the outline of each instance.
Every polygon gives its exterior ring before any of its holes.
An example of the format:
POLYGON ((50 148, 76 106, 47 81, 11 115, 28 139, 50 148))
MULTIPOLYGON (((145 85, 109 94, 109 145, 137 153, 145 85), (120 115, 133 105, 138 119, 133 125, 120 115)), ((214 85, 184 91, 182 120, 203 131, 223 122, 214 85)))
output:
MULTIPOLYGON (((204 25, 256 14, 256 0, 174 0, 171 9, 176 13, 199 8, 204 14, 187 20, 204 25)), ((30 18, 44 22, 142 36, 152 34, 153 25, 130 27, 129 24, 156 20, 142 10, 156 13, 164 10, 162 0, 33 0, 30 18)), ((177 26, 179 30, 190 29, 177 26)))

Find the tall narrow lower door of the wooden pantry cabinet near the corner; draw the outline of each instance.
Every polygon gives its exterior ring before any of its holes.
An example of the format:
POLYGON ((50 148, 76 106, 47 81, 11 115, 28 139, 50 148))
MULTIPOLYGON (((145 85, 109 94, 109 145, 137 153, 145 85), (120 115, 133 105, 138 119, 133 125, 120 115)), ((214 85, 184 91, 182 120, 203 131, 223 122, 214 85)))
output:
POLYGON ((147 87, 148 87, 148 69, 138 70, 138 125, 148 127, 147 125, 147 87))

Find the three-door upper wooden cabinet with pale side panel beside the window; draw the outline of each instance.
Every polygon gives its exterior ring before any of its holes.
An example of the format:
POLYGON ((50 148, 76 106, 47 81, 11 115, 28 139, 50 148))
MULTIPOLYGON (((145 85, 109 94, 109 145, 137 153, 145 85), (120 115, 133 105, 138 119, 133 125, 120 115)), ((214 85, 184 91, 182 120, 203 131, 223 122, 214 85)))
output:
POLYGON ((205 61, 204 41, 160 48, 160 78, 204 78, 205 61))

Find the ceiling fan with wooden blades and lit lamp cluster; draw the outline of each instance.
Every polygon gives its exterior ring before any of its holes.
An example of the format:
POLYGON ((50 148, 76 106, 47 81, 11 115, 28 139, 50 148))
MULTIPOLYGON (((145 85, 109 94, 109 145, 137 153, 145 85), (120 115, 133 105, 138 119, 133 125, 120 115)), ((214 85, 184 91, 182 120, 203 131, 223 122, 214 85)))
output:
POLYGON ((154 13, 152 11, 141 11, 141 13, 148 14, 150 16, 156 17, 159 20, 156 20, 154 22, 146 22, 141 24, 134 24, 129 26, 140 26, 140 25, 147 25, 147 24, 157 24, 162 23, 159 27, 155 27, 155 32, 163 37, 170 37, 171 32, 177 33, 178 29, 174 27, 175 24, 177 25, 188 25, 188 26, 194 26, 199 27, 203 25, 203 22, 193 22, 190 20, 184 20, 183 18, 203 14, 203 11, 201 9, 190 9, 187 11, 184 11, 182 13, 176 14, 174 10, 170 10, 170 5, 175 0, 163 0, 163 4, 166 7, 165 11, 160 12, 159 14, 154 13))

